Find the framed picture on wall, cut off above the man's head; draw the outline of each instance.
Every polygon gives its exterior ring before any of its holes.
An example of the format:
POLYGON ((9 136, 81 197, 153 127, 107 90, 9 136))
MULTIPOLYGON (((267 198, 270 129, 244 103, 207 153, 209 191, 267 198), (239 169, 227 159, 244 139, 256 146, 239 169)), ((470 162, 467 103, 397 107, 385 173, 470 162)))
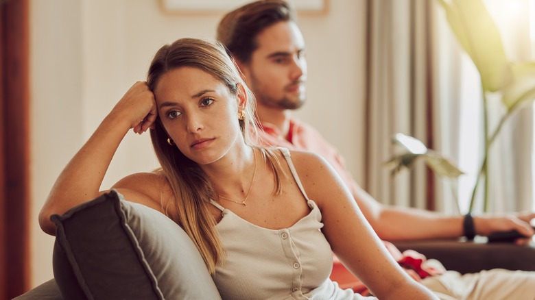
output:
MULTIPOLYGON (((170 14, 219 14, 253 0, 159 0, 163 12, 170 14)), ((287 0, 298 13, 323 14, 329 0, 287 0)))

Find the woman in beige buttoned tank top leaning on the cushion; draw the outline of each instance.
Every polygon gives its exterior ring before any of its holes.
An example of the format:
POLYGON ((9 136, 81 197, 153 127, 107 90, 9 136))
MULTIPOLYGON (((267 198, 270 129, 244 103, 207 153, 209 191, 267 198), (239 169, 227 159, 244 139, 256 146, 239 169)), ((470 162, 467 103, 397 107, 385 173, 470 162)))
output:
POLYGON ((162 168, 112 188, 180 224, 224 299, 360 299, 330 281, 331 250, 381 299, 434 299, 388 255, 329 164, 250 146, 252 111, 224 47, 191 38, 162 47, 147 82, 126 92, 64 168, 41 227, 53 234, 51 214, 106 192, 99 186, 123 137, 150 129, 162 168))

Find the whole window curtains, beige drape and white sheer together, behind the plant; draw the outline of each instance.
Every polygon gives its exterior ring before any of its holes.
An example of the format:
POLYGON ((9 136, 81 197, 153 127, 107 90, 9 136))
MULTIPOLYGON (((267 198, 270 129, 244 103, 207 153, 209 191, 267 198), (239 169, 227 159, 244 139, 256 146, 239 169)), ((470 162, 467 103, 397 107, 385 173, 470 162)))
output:
MULTIPOLYGON (((535 60, 533 2, 484 0, 511 61, 535 60)), ((368 0, 367 47, 364 187, 383 203, 465 213, 483 159, 482 92, 442 8, 434 0, 368 0), (449 182, 417 164, 391 177, 384 163, 396 153, 397 132, 422 140, 466 174, 449 182)), ((488 95, 488 105, 492 132, 503 113, 499 95, 488 95)), ((516 112, 490 149, 490 212, 535 207, 533 114, 530 105, 516 112)), ((477 200, 475 212, 482 210, 477 200)))

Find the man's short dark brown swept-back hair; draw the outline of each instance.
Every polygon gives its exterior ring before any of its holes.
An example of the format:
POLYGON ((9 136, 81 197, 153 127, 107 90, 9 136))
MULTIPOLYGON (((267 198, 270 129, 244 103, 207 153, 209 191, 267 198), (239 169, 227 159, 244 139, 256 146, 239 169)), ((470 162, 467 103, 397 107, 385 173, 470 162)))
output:
POLYGON ((296 21, 294 9, 283 0, 248 3, 226 14, 217 26, 217 40, 234 58, 250 62, 257 49, 257 36, 263 29, 280 21, 296 21))

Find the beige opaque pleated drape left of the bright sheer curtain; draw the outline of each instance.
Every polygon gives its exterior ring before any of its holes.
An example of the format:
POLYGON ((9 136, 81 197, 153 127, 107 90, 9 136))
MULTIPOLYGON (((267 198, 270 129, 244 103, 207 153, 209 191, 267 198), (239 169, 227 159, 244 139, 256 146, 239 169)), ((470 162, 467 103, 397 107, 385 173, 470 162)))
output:
POLYGON ((383 203, 449 210, 434 197, 441 184, 425 166, 396 177, 384 166, 399 150, 391 142, 398 132, 440 146, 433 15, 427 0, 368 1, 364 187, 383 203))

